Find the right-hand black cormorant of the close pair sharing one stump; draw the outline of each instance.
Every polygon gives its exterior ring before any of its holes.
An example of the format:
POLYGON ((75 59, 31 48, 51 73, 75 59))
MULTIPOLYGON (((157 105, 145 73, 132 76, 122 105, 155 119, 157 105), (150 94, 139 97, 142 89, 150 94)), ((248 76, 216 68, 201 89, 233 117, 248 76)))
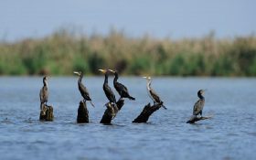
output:
POLYGON ((130 100, 135 100, 132 96, 130 96, 128 89, 120 82, 118 82, 118 73, 116 70, 109 69, 112 73, 114 73, 114 79, 113 79, 113 86, 115 90, 119 93, 121 96, 120 98, 128 98, 130 100))

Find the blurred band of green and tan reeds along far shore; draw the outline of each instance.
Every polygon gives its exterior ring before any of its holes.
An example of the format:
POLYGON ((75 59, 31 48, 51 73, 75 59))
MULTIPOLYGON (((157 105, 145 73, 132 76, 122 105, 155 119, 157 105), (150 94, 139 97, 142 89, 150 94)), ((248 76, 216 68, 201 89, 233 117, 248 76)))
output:
POLYGON ((0 42, 0 75, 70 75, 73 70, 99 74, 117 69, 129 75, 256 76, 256 37, 172 40, 78 36, 60 30, 48 37, 0 42))

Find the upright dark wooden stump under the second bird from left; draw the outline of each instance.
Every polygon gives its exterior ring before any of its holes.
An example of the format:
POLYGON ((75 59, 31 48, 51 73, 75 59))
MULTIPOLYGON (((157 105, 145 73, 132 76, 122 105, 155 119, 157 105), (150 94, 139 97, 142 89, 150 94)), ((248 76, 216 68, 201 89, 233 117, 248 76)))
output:
POLYGON ((80 106, 78 109, 77 123, 89 123, 89 112, 87 110, 86 103, 80 101, 80 106))

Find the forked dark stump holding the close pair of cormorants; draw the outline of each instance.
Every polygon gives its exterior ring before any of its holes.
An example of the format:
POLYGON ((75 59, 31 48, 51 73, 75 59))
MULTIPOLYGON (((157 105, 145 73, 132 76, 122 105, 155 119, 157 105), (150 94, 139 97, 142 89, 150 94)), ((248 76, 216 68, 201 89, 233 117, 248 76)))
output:
POLYGON ((105 110, 100 123, 104 124, 110 124, 112 123, 112 119, 116 116, 117 112, 119 112, 124 104, 124 100, 120 99, 119 101, 116 102, 115 104, 111 104, 110 102, 106 103, 105 106, 107 109, 105 110))

